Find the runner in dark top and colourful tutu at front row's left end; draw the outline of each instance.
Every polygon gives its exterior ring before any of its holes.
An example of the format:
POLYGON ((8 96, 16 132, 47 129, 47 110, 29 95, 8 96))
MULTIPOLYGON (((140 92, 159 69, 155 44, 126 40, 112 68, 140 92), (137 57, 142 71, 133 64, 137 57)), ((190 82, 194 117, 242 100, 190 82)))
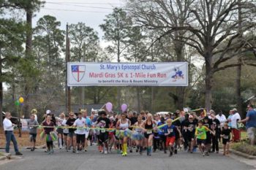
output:
POLYGON ((48 126, 48 128, 44 128, 48 154, 53 153, 53 138, 50 133, 54 131, 54 123, 50 120, 51 120, 51 115, 47 115, 46 120, 42 123, 43 126, 48 126), (53 128, 49 128, 49 126, 53 128))

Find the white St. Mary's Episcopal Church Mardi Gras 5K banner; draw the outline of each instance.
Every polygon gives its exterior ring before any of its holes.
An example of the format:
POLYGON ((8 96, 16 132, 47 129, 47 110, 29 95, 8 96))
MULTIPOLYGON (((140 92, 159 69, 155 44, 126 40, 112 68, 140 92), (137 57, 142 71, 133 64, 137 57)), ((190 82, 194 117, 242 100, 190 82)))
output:
POLYGON ((187 62, 68 63, 68 86, 187 86, 187 62))

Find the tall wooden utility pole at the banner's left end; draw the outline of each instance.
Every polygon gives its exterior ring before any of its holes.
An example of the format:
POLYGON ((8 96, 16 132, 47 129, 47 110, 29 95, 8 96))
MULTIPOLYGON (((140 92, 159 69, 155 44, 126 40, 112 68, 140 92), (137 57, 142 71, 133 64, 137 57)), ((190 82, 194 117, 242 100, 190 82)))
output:
POLYGON ((70 87, 67 85, 67 74, 69 74, 67 72, 67 63, 69 62, 69 58, 70 58, 70 50, 69 50, 69 25, 67 23, 66 26, 66 85, 65 85, 65 93, 66 93, 66 112, 70 112, 71 111, 71 107, 70 107, 70 87))

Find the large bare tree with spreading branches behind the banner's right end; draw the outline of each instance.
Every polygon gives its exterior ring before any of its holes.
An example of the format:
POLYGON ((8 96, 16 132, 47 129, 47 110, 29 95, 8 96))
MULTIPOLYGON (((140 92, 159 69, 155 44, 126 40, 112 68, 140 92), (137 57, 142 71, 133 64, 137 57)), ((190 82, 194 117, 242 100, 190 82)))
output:
MULTIPOLYGON (((205 106, 211 109, 213 76, 215 72, 236 66, 236 63, 223 66, 222 63, 228 61, 238 52, 241 44, 235 45, 233 42, 238 38, 238 1, 208 1, 193 0, 189 1, 187 17, 184 18, 184 25, 173 25, 165 16, 173 18, 172 10, 180 4, 176 1, 138 1, 131 0, 129 7, 130 12, 138 20, 138 23, 151 29, 164 29, 165 32, 159 36, 169 35, 175 31, 187 31, 195 38, 181 35, 178 42, 194 47, 206 61, 206 79, 205 79, 205 106), (163 5, 165 4, 165 5, 163 5), (153 20, 151 18, 154 18, 153 20), (156 20, 156 18, 158 20, 156 20), (225 45, 221 46, 225 42, 225 45), (231 55, 230 53, 233 52, 231 55), (227 55, 229 53, 229 55, 227 55)), ((244 19, 242 32, 248 31, 255 27, 255 2, 244 0, 241 2, 241 8, 246 9, 248 18, 244 19)), ((175 19, 175 18, 174 18, 175 19)), ((246 42, 246 41, 244 41, 246 42)), ((242 52, 243 53, 243 52, 242 52)))

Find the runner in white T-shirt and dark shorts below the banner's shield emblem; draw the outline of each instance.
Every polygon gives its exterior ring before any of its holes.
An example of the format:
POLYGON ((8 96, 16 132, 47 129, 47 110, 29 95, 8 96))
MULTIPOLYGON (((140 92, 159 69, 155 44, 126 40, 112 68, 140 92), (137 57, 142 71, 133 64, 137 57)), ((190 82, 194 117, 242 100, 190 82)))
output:
POLYGON ((85 146, 85 139, 86 139, 86 119, 82 117, 82 113, 78 112, 78 119, 75 120, 74 126, 77 127, 75 131, 76 139, 77 139, 77 153, 78 150, 82 150, 80 148, 80 144, 82 145, 83 149, 85 146))

